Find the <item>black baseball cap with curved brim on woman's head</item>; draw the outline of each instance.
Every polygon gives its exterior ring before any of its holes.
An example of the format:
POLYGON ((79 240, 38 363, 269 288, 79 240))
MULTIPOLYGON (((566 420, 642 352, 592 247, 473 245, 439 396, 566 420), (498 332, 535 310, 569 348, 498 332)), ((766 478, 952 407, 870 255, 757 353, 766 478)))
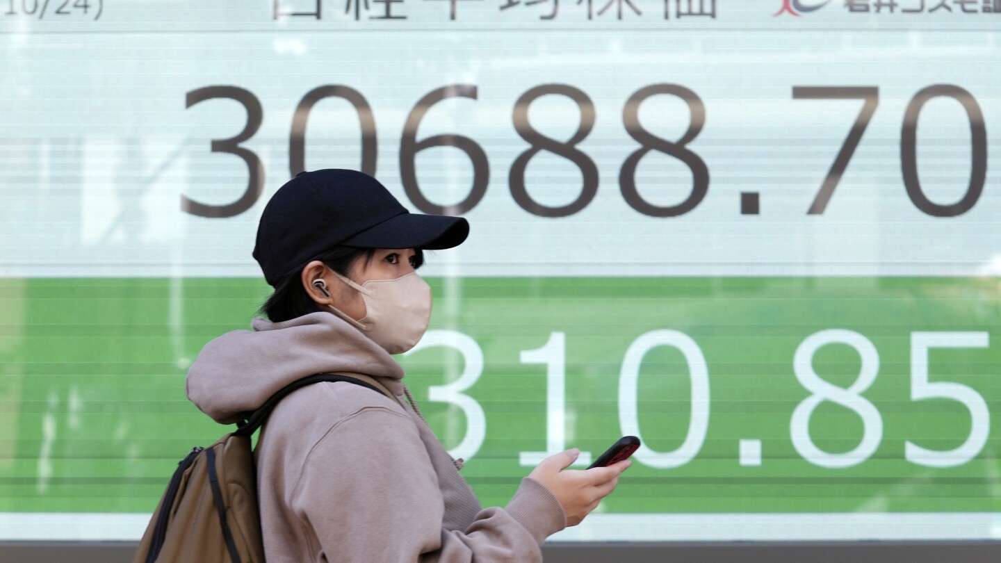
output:
POLYGON ((272 287, 334 246, 440 249, 469 234, 462 217, 411 213, 375 178, 356 170, 299 172, 271 196, 253 257, 272 287))

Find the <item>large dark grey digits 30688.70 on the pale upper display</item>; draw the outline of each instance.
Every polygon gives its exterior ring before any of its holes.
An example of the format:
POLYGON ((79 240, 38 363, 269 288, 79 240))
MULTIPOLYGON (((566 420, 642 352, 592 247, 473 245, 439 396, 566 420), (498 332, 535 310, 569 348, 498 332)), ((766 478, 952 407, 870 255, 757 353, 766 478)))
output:
MULTIPOLYGON (((242 195, 230 203, 215 205, 196 201, 181 195, 181 209, 204 217, 231 217, 249 209, 264 189, 264 165, 252 150, 241 146, 257 132, 263 121, 264 111, 260 100, 244 88, 237 86, 206 86, 191 90, 186 96, 186 107, 216 99, 232 99, 243 105, 247 112, 246 125, 234 137, 215 139, 211 142, 212 152, 234 154, 246 162, 248 169, 247 186, 242 195)), ((343 85, 320 86, 310 90, 299 101, 292 117, 288 142, 289 173, 295 175, 305 169, 305 130, 309 113, 317 102, 326 98, 340 98, 350 103, 361 125, 360 169, 374 175, 378 156, 375 131, 375 117, 365 97, 357 90, 343 85)), ((421 97, 410 111, 403 125, 399 143, 399 174, 407 197, 417 209, 425 213, 462 214, 473 207, 486 194, 489 181, 489 160, 483 148, 469 137, 458 134, 437 134, 417 140, 417 127, 427 111, 438 102, 448 98, 477 98, 477 87, 471 84, 452 84, 436 88, 421 97), (472 184, 466 196, 453 204, 442 205, 428 199, 417 182, 416 155, 421 150, 436 146, 451 146, 459 149, 472 164, 472 184)), ((862 136, 879 104, 879 88, 875 86, 794 86, 794 99, 861 99, 863 108, 828 170, 808 214, 821 214, 834 194, 848 163, 855 153, 862 136)), ((626 132, 640 146, 626 157, 619 171, 619 187, 626 202, 637 211, 654 217, 674 217, 683 215, 699 205, 709 192, 710 170, 703 158, 689 148, 706 123, 706 107, 702 99, 691 89, 678 84, 651 84, 637 90, 626 101, 623 108, 623 124, 626 132), (689 126, 678 140, 668 140, 654 135, 640 122, 640 106, 656 95, 671 95, 682 99, 690 113, 689 126), (650 152, 657 151, 683 162, 692 171, 692 189, 686 198, 673 205, 656 205, 640 194, 636 183, 636 171, 640 161, 650 152)), ((599 171, 595 161, 578 145, 591 133, 596 122, 595 104, 583 90, 567 84, 544 84, 529 89, 515 102, 512 120, 515 130, 529 143, 511 165, 509 188, 512 197, 525 210, 544 217, 563 217, 577 213, 587 207, 598 193, 599 171), (547 96, 564 96, 572 100, 580 112, 577 131, 569 140, 558 140, 540 133, 529 119, 529 108, 537 99, 547 96), (573 162, 582 174, 581 191, 563 205, 547 205, 535 199, 526 185, 526 170, 529 162, 540 152, 547 151, 573 162)), ((900 141, 901 171, 907 195, 915 206, 924 213, 938 217, 963 214, 976 204, 983 192, 987 175, 987 130, 983 113, 970 92, 958 86, 937 84, 920 90, 911 99, 904 116, 900 141), (922 108, 931 99, 952 98, 960 102, 967 113, 971 133, 970 183, 963 196, 952 203, 939 203, 929 199, 922 190, 917 167, 917 123, 922 108)))

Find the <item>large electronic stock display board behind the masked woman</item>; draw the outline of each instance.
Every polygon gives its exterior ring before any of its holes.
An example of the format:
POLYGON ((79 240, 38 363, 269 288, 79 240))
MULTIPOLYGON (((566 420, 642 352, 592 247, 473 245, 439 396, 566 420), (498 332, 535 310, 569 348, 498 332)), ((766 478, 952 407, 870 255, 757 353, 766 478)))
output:
POLYGON ((139 538, 332 167, 470 223, 398 360, 484 506, 635 435, 554 540, 1001 538, 999 0, 3 0, 0 48, 0 540, 139 538))

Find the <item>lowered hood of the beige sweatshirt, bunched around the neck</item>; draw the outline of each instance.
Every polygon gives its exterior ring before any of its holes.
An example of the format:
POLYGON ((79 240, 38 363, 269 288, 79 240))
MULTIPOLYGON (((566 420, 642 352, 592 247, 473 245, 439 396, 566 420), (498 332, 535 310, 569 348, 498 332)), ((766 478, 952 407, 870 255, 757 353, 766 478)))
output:
POLYGON ((403 369, 346 321, 312 313, 282 323, 257 318, 202 349, 187 375, 187 396, 220 424, 233 424, 289 383, 313 374, 348 372, 378 378, 403 393, 403 369))

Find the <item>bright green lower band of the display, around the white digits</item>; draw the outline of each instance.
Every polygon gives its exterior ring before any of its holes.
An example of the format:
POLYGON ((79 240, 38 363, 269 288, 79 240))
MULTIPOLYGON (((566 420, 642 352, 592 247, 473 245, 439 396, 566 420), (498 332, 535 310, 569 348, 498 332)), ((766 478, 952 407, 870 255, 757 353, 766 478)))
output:
MULTIPOLYGON (((1001 401, 1001 285, 990 278, 647 277, 429 279, 432 329, 468 335, 485 367, 467 394, 486 416, 485 440, 462 473, 484 505, 505 504, 530 468, 520 452, 546 448, 546 366, 520 362, 554 332, 566 334, 567 437, 599 455, 621 435, 618 389, 627 349, 660 329, 699 345, 710 374, 709 430, 695 459, 656 469, 637 463, 603 505, 611 513, 978 512, 1001 510, 999 421, 980 455, 935 469, 904 458, 904 444, 950 450, 970 433, 959 403, 910 399, 913 332, 986 332, 984 349, 933 350, 931 381, 969 386, 990 412, 1001 401), (865 462, 828 469, 793 447, 790 420, 810 392, 793 357, 810 335, 846 329, 869 339, 879 375, 862 396, 884 429, 865 462), (760 467, 739 463, 739 441, 761 440, 760 467)), ((226 429, 184 396, 202 346, 248 326, 267 297, 244 278, 0 280, 0 512, 149 512, 176 462, 226 429)), ((446 448, 466 430, 459 409, 427 400, 458 377, 446 348, 400 362, 446 448)), ((832 345, 814 358, 840 387, 859 355, 832 345)), ((645 358, 642 436, 659 452, 688 430, 689 368, 673 348, 645 358)), ((822 403, 810 434, 846 452, 862 436, 850 409, 822 403)))

